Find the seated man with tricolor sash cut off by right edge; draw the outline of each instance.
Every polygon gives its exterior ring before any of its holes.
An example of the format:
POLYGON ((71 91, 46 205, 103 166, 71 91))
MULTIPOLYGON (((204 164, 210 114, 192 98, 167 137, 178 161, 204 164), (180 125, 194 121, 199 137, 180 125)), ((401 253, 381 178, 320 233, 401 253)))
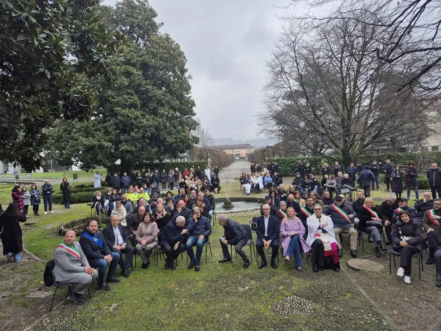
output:
POLYGON ((426 260, 426 264, 435 263, 435 251, 438 247, 438 242, 435 239, 435 234, 440 228, 441 220, 441 199, 435 199, 433 201, 433 209, 429 209, 424 213, 421 226, 422 239, 427 239, 429 246, 429 257, 426 260))

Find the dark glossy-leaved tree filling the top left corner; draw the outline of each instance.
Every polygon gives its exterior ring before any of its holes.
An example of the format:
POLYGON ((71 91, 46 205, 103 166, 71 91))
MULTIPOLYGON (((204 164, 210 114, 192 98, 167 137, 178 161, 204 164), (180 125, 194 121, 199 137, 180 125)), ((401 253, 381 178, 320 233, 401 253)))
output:
POLYGON ((119 35, 94 10, 99 0, 0 0, 0 155, 41 166, 57 119, 90 118, 89 78, 107 76, 119 35))

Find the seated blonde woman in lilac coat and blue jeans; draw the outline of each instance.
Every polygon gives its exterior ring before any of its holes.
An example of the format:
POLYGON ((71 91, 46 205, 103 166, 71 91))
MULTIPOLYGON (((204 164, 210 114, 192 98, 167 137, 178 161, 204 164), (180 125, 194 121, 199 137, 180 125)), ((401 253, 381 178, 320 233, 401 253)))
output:
POLYGON ((283 219, 280 225, 280 234, 283 242, 283 255, 285 255, 285 263, 288 263, 294 255, 294 265, 298 271, 302 271, 302 256, 300 247, 303 253, 309 252, 311 249, 306 241, 303 239, 305 234, 305 227, 300 219, 295 215, 293 207, 286 209, 287 217, 283 219))

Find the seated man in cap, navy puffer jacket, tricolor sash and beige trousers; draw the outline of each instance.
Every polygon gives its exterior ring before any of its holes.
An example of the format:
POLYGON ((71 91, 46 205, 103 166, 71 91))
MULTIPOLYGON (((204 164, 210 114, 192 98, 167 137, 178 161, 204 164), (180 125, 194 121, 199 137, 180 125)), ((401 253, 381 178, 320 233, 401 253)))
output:
POLYGON ((357 257, 357 231, 354 229, 352 222, 354 217, 357 216, 352 207, 343 204, 343 198, 340 196, 335 197, 334 204, 328 206, 324 211, 325 215, 328 215, 332 219, 334 224, 335 239, 339 248, 339 257, 343 256, 342 244, 340 243, 339 234, 341 232, 348 233, 350 239, 351 256, 357 257))

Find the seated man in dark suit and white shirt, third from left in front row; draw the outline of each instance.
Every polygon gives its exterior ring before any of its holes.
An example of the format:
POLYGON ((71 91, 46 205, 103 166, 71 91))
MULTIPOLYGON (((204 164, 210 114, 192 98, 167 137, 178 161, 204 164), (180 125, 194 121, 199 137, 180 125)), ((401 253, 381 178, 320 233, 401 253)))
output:
POLYGON ((135 250, 132 246, 127 246, 129 239, 127 231, 119 223, 118 215, 110 216, 110 224, 107 224, 102 234, 110 250, 120 255, 121 274, 124 277, 129 277, 130 271, 128 268, 132 267, 135 250), (123 253, 125 253, 125 261, 123 261, 123 253))

